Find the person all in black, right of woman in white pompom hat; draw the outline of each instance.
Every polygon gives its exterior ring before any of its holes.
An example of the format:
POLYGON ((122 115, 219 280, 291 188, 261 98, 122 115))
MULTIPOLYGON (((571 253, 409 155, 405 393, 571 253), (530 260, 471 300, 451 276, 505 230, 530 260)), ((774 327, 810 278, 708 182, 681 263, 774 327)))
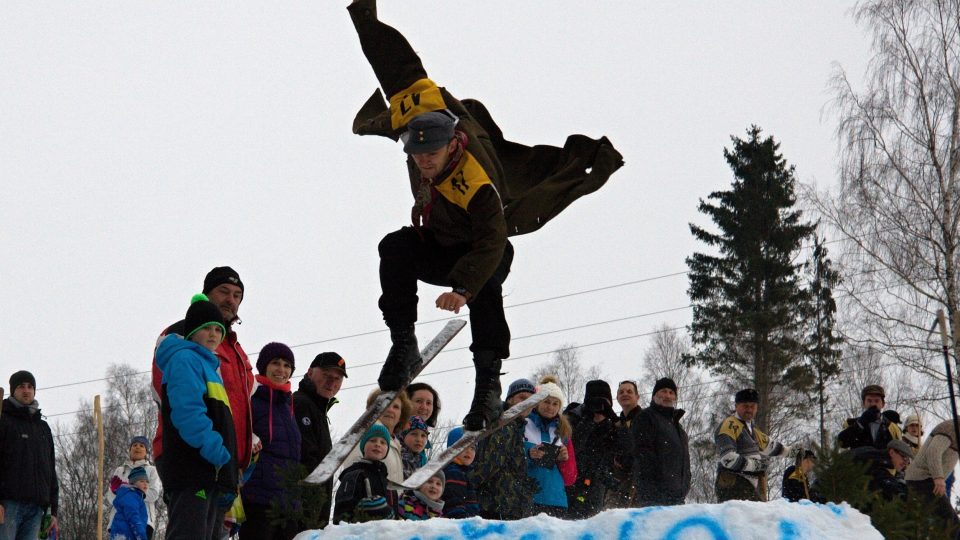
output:
POLYGON ((613 460, 630 454, 630 434, 613 412, 610 385, 587 382, 583 405, 567 413, 573 427, 577 480, 567 487, 567 517, 586 519, 603 510, 607 489, 616 485, 613 460))

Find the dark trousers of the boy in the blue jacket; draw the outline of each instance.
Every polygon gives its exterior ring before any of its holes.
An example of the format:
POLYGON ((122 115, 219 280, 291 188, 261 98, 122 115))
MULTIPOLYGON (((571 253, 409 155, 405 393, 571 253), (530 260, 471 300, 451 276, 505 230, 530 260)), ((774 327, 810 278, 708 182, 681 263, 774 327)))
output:
POLYGON ((220 539, 224 511, 217 506, 219 491, 178 489, 166 497, 167 540, 220 539))

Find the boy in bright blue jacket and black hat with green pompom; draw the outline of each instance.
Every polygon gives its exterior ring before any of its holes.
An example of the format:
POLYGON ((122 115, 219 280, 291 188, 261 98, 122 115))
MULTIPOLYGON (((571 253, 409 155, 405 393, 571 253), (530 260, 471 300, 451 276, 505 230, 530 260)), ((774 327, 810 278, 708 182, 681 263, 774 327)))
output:
POLYGON ((166 538, 214 539, 237 496, 239 471, 230 400, 213 354, 226 328, 220 309, 206 296, 193 297, 184 334, 164 338, 156 354, 163 373, 163 454, 157 471, 167 493, 166 538))

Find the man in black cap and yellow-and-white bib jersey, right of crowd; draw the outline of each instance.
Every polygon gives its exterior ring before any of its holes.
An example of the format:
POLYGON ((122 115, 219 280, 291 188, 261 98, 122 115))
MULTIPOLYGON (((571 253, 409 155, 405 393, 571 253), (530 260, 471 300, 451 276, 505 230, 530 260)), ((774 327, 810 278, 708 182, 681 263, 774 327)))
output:
POLYGON ((717 501, 767 500, 767 459, 786 457, 791 448, 770 440, 753 425, 760 394, 753 388, 737 392, 736 412, 714 432, 717 446, 717 501))

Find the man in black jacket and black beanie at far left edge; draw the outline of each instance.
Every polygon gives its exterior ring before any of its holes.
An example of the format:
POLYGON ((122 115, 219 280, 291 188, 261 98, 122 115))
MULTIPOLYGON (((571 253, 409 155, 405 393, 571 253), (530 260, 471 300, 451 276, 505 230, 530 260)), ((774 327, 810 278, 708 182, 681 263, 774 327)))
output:
POLYGON ((10 389, 0 414, 0 538, 37 538, 47 510, 53 517, 43 532, 57 524, 53 435, 40 416, 33 375, 14 373, 10 389))

